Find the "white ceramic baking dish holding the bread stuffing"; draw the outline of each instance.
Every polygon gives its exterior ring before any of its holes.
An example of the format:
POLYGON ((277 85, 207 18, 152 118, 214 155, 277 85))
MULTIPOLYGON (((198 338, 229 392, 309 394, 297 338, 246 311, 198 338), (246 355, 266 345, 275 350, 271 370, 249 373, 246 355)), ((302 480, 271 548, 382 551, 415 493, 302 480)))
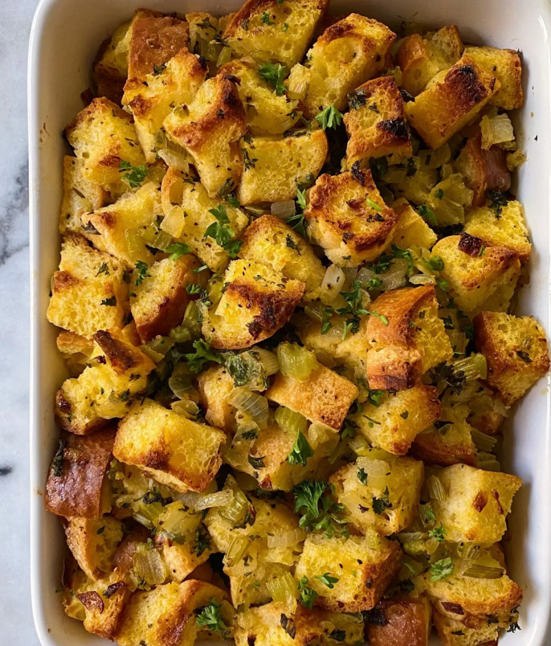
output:
MULTIPOLYGON (((227 14, 240 0, 42 0, 34 16, 28 70, 30 153, 31 301, 31 589, 34 622, 44 646, 99 644, 67 618, 56 594, 65 541, 58 519, 44 509, 46 472, 59 429, 54 393, 66 377, 56 350, 55 328, 46 321, 50 277, 59 262, 58 217, 61 160, 67 152, 63 127, 83 107, 81 91, 99 43, 134 10, 191 10, 227 14)), ((530 285, 521 290, 519 312, 550 324, 550 34, 545 0, 333 0, 333 12, 357 10, 397 28, 415 19, 428 27, 455 23, 464 40, 523 53, 525 106, 515 115, 528 162, 514 186, 526 206, 534 241, 530 285)), ((551 435, 549 382, 541 380, 508 421, 503 469, 523 478, 510 515, 508 563, 525 590, 522 631, 506 634, 503 646, 543 646, 551 606, 551 435)))

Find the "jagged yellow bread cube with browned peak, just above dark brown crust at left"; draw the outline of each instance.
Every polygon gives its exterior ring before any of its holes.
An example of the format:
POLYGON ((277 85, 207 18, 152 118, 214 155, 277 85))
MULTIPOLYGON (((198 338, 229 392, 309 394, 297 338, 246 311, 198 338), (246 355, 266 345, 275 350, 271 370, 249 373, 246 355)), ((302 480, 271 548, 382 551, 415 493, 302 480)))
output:
POLYGON ((140 349, 113 331, 94 334, 96 349, 90 367, 78 379, 67 379, 56 394, 56 420, 77 435, 101 428, 107 420, 125 416, 134 396, 147 386, 155 367, 140 349))

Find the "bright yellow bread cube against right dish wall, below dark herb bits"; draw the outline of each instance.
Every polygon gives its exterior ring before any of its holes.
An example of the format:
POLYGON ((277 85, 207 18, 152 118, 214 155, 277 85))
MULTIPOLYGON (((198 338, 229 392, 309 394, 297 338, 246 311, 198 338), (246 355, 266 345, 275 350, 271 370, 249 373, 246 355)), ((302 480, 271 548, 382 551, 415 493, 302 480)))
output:
POLYGON ((501 208, 499 217, 489 206, 474 208, 465 218, 465 233, 484 240, 487 246, 500 246, 516 253, 521 261, 530 258, 532 245, 522 204, 511 200, 501 208))

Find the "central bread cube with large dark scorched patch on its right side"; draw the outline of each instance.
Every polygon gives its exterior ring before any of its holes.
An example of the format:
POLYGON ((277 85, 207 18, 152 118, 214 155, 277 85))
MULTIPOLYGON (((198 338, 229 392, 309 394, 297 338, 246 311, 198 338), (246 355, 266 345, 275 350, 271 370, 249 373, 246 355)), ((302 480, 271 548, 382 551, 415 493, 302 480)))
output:
POLYGON ((304 295, 301 281, 248 260, 232 261, 224 283, 222 298, 202 323, 203 336, 216 348, 239 349, 269 338, 289 321, 304 295))

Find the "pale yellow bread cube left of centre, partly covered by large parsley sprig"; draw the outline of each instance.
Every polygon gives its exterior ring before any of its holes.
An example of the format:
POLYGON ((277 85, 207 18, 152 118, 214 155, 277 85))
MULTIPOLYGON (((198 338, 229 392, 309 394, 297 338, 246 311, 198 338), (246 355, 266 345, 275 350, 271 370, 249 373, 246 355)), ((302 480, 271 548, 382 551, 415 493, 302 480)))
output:
POLYGON ((214 272, 222 272, 229 263, 228 252, 210 236, 207 228, 217 222, 211 211, 223 206, 233 231, 232 239, 240 237, 249 223, 239 208, 221 204, 219 197, 209 197, 202 184, 170 168, 163 178, 163 228, 185 244, 214 272))

